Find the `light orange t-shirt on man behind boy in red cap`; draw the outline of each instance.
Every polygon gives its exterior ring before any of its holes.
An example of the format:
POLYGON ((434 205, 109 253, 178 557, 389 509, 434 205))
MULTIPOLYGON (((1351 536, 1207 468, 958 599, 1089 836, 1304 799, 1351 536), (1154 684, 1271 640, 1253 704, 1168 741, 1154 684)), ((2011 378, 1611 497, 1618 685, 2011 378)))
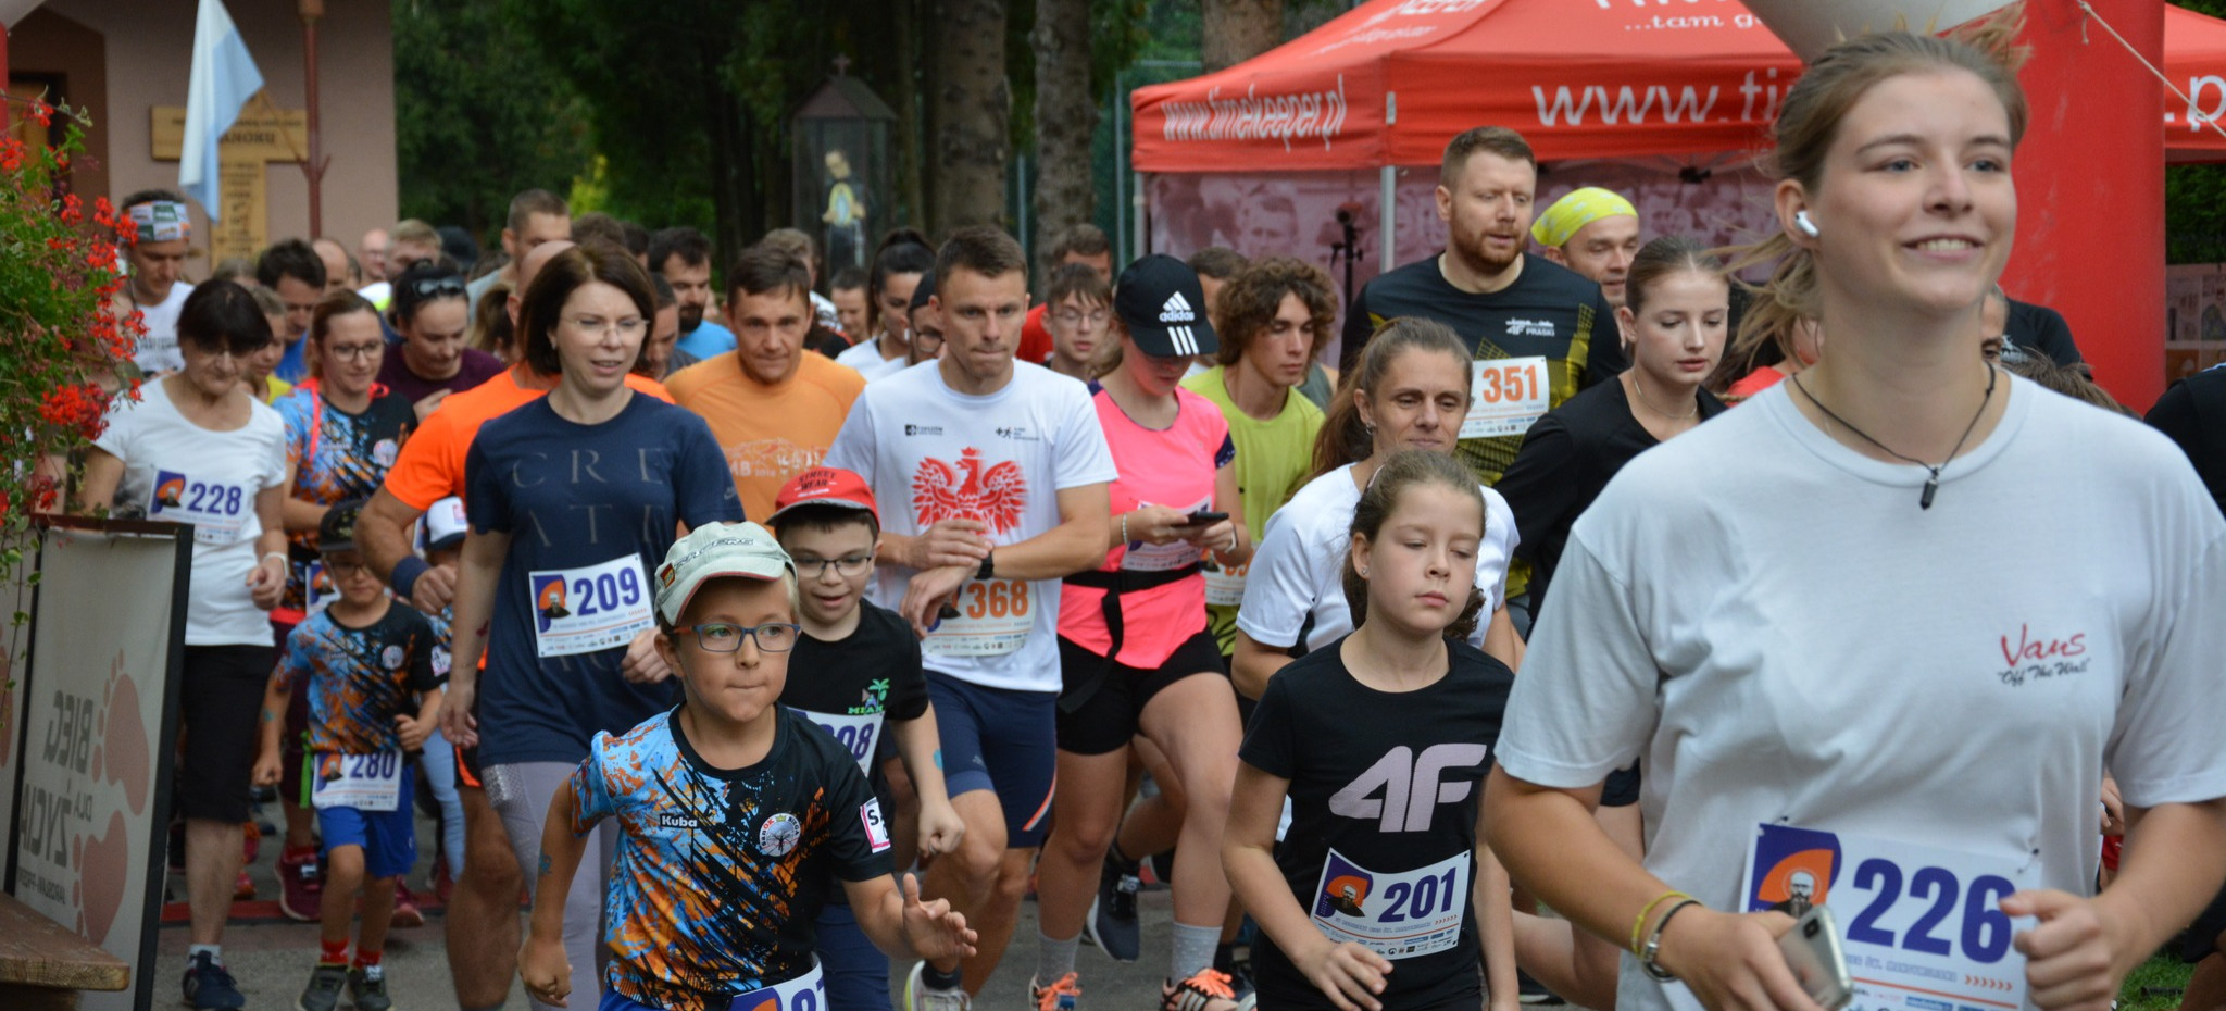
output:
MULTIPOLYGON (((750 379, 735 352, 712 354, 670 376, 672 403, 710 421, 728 468, 741 514, 772 514, 781 485, 826 459, 866 379, 819 352, 804 352, 797 374, 779 385, 750 379)), ((418 436, 423 439, 423 434, 418 436)))

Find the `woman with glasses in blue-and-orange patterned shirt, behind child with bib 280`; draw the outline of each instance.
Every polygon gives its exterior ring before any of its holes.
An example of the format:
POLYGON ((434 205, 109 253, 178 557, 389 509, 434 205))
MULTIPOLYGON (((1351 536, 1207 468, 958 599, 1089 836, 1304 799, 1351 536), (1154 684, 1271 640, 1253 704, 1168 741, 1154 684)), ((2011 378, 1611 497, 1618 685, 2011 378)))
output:
MULTIPOLYGON (((356 292, 334 292, 309 314, 309 379, 276 403, 285 421, 287 485, 280 506, 287 530, 287 590, 272 626, 280 648, 296 624, 334 595, 316 546, 325 510, 347 499, 365 499, 385 481, 403 439, 416 425, 410 401, 376 381, 385 361, 378 310, 356 292)), ((301 688, 301 686, 294 686, 301 688)), ((301 730, 309 719, 309 693, 296 690, 280 735, 285 782, 285 851, 278 855, 278 909, 294 920, 316 920, 318 868, 309 808, 301 806, 301 730)), ((423 922, 416 906, 396 904, 396 920, 423 922)))

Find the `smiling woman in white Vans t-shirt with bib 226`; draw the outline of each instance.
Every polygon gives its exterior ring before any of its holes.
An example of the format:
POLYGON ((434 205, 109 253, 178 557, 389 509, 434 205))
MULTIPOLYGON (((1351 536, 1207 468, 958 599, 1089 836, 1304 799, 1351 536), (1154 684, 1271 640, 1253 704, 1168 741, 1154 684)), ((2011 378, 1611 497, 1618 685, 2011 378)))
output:
POLYGON ((2166 439, 1977 350, 2015 27, 1810 62, 1754 258, 1823 359, 1569 534, 1485 811, 1518 882, 1629 951, 1618 1011, 1814 1009, 1781 951, 1832 958, 1819 920, 1785 938, 1812 902, 1863 1007, 2104 1011, 2226 875, 2226 523, 2166 439), (1634 757, 1643 866, 1587 813, 1634 757), (2146 817, 2088 897, 2106 770, 2146 817))

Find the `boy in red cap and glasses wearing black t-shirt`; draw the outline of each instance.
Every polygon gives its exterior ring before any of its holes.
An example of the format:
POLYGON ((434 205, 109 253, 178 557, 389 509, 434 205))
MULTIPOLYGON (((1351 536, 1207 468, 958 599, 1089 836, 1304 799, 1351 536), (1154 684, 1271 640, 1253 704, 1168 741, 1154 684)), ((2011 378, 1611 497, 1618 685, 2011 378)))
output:
MULTIPOLYGON (((893 799, 897 860, 908 860, 915 844, 922 860, 951 853, 966 822, 944 788, 919 637, 897 612, 866 603, 881 539, 873 490, 850 470, 812 468, 781 488, 768 521, 797 566, 804 635, 792 664, 810 673, 790 679, 781 701, 835 735, 875 791, 893 799)), ((888 1011, 888 960, 841 895, 819 913, 817 951, 828 1009, 888 1011)))

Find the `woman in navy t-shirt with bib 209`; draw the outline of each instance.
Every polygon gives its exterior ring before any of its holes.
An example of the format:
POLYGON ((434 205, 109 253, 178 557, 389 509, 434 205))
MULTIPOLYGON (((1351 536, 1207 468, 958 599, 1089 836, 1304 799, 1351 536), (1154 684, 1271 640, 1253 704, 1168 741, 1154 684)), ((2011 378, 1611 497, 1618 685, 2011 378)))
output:
MULTIPOLYGON (((677 699, 663 670, 641 681, 621 673, 626 646, 657 624, 650 568, 677 526, 741 519, 703 419, 626 385, 654 314, 650 276, 623 249, 556 254, 519 305, 525 363, 556 374, 556 387, 487 421, 465 457, 472 530, 456 586, 454 713, 443 733, 479 746, 481 782, 528 882, 539 877, 550 797, 588 742, 677 699)), ((610 846, 594 846, 605 860, 572 880, 565 902, 579 993, 597 991, 610 846)))

